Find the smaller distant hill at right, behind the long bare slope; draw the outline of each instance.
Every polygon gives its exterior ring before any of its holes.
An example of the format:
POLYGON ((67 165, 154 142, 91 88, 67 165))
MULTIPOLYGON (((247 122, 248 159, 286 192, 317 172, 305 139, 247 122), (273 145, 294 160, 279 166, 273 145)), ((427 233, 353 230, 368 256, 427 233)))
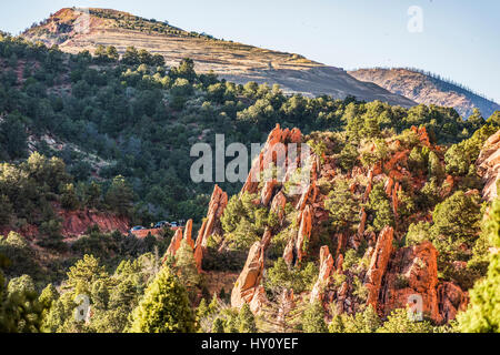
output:
POLYGON ((349 74, 360 81, 376 83, 418 103, 454 108, 463 118, 471 115, 474 108, 479 109, 484 118, 500 110, 498 103, 468 89, 413 70, 359 69, 349 71, 349 74))

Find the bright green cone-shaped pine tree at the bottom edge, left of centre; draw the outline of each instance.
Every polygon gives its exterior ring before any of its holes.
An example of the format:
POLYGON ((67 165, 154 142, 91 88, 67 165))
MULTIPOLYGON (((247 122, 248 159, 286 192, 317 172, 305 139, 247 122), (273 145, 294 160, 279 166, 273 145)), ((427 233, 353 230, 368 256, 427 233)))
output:
POLYGON ((186 288, 163 267, 133 311, 132 333, 193 333, 194 314, 186 288))

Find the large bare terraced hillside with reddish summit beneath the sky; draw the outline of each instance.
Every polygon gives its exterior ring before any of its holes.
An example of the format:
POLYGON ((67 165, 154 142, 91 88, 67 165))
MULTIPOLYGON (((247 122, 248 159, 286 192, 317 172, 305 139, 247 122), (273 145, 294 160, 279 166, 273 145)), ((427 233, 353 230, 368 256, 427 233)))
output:
POLYGON ((134 45, 163 55, 168 65, 191 58, 198 72, 213 71, 236 83, 278 83, 286 92, 312 97, 329 94, 343 99, 354 95, 359 100, 380 100, 407 108, 416 104, 378 85, 360 82, 342 69, 327 67, 299 54, 217 40, 114 10, 90 9, 90 19, 86 20, 84 14, 76 9, 62 9, 26 31, 23 37, 48 45, 58 44, 70 53, 93 52, 99 44, 113 45, 123 53, 127 47, 134 45), (88 31, 79 30, 87 28, 87 23, 88 31))

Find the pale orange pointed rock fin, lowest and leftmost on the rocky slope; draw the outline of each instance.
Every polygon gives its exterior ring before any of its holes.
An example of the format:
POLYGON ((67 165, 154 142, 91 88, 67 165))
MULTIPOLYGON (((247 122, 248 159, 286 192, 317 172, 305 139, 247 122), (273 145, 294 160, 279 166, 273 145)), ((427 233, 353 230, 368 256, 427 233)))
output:
POLYGON ((248 253, 244 267, 234 283, 231 293, 231 306, 240 308, 244 303, 253 313, 259 313, 267 302, 266 292, 260 282, 264 270, 264 254, 270 241, 270 232, 266 232, 262 241, 256 242, 248 253))

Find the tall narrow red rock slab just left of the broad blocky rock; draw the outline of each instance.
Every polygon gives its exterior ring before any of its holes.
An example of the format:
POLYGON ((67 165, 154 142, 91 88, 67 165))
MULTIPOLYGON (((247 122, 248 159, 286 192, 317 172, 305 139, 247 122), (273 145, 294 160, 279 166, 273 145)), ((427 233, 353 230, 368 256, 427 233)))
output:
POLYGON ((379 302, 380 286, 382 276, 386 273, 387 265, 392 252, 392 240, 394 230, 386 226, 379 234, 377 245, 371 256, 370 266, 364 277, 364 285, 368 288, 368 304, 371 304, 377 310, 379 302))

